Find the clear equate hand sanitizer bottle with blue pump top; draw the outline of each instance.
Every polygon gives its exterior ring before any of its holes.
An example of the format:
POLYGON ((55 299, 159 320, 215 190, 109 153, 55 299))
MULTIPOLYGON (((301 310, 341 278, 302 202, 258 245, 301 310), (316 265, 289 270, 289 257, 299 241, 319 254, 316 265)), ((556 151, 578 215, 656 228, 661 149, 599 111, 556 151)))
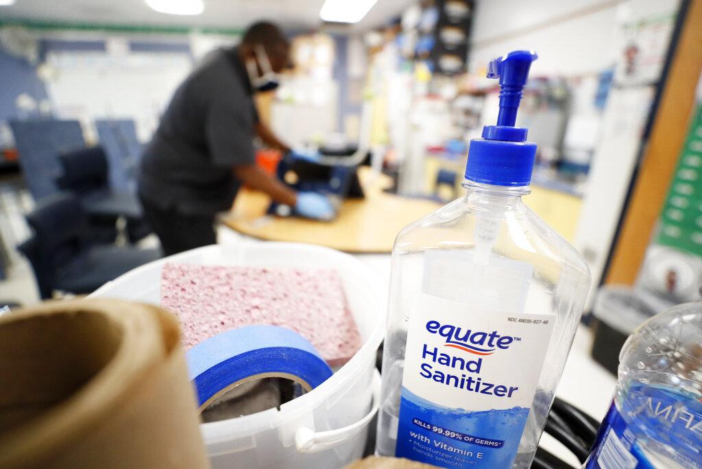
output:
POLYGON ((536 54, 490 62, 496 126, 472 140, 465 197, 392 251, 376 454, 444 468, 528 468, 590 273, 522 202, 536 145, 515 127, 536 54))

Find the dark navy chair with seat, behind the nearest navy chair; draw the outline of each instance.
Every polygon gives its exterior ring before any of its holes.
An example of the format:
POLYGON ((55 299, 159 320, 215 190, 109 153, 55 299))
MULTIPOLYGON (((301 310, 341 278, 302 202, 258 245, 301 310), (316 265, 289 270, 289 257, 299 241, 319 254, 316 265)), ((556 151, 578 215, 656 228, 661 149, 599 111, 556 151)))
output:
POLYGON ((62 176, 57 179, 59 187, 79 198, 91 222, 103 222, 114 227, 117 219, 124 217, 131 242, 151 232, 143 219, 136 194, 110 187, 109 167, 102 147, 66 152, 58 159, 62 166, 62 176))

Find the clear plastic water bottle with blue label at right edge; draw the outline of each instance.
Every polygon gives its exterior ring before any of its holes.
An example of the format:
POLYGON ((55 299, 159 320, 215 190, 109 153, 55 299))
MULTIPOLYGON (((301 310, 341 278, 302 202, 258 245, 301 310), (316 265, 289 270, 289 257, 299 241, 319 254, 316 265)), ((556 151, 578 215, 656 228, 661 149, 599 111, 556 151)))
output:
POLYGON ((702 302, 644 322, 618 371, 585 467, 702 469, 702 302))

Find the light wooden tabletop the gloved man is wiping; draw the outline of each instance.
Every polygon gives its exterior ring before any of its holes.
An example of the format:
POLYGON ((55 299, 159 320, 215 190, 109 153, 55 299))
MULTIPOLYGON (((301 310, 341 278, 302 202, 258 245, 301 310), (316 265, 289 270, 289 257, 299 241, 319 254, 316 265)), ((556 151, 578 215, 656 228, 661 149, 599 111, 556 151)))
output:
POLYGON ((367 167, 359 168, 359 180, 365 199, 343 202, 331 222, 266 215, 270 198, 247 189, 239 191, 232 211, 222 221, 238 232, 267 241, 319 244, 352 253, 387 253, 403 227, 440 206, 426 199, 383 192, 390 178, 373 175, 367 167))

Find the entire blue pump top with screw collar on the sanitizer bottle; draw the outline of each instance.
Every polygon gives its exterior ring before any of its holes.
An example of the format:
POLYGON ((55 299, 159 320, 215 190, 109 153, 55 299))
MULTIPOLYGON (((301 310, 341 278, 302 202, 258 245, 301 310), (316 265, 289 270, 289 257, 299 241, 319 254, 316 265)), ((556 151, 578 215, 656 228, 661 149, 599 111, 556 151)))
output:
POLYGON ((527 128, 515 127, 522 89, 534 51, 512 51, 488 65, 487 77, 500 80, 500 112, 496 126, 484 126, 482 138, 470 140, 465 178, 475 183, 523 186, 531 182, 536 144, 527 142, 527 128))

